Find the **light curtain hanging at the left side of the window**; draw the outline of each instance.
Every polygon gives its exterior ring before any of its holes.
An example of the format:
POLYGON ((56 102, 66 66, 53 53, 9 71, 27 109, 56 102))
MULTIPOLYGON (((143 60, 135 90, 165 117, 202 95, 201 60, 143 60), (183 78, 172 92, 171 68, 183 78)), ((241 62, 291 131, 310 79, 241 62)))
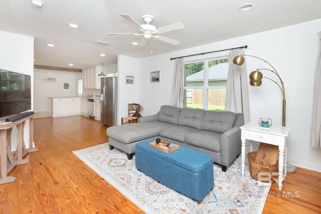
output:
POLYGON ((183 96, 184 96, 184 69, 183 69, 183 58, 175 59, 175 71, 171 94, 171 105, 182 107, 183 96))

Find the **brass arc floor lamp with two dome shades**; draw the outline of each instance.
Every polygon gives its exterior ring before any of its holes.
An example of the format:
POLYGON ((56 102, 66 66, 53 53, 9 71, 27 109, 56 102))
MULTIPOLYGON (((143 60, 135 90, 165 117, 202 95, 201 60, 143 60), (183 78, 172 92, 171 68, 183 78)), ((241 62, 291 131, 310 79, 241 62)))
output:
POLYGON ((281 92, 282 92, 282 95, 283 95, 282 126, 285 126, 285 90, 284 90, 283 81, 282 81, 280 75, 277 73, 275 68, 270 63, 266 62, 265 60, 263 60, 263 59, 261 59, 259 57, 255 57, 255 56, 252 56, 252 55, 239 55, 239 56, 236 56, 233 59, 233 63, 236 64, 236 65, 242 65, 244 63, 244 57, 243 56, 254 57, 256 59, 264 61, 269 66, 271 66, 272 69, 261 68, 261 69, 257 69, 256 71, 252 71, 250 73, 250 76, 249 76, 250 77, 250 85, 251 86, 260 86, 262 84, 262 78, 265 78, 265 79, 268 79, 268 80, 271 80, 272 82, 274 82, 281 89, 281 92), (278 77, 280 83, 278 83, 278 82, 276 82, 276 81, 274 81, 274 80, 272 80, 270 78, 264 77, 263 74, 260 72, 262 70, 270 71, 273 74, 275 74, 278 77))

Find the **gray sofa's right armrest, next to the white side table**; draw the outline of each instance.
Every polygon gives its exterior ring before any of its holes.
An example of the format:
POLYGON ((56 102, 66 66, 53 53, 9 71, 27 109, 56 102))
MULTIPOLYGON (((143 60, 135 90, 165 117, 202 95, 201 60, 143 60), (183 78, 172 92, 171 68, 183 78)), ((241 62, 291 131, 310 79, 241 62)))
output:
POLYGON ((241 153, 241 129, 233 127, 221 135, 221 164, 228 166, 241 153))

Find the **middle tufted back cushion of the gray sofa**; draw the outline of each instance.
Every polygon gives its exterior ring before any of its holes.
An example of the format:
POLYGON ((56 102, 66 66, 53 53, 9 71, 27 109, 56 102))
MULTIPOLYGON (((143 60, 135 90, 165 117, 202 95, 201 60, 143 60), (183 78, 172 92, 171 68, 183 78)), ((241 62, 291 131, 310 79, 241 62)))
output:
POLYGON ((201 129, 204 113, 204 109, 182 108, 179 125, 201 129))

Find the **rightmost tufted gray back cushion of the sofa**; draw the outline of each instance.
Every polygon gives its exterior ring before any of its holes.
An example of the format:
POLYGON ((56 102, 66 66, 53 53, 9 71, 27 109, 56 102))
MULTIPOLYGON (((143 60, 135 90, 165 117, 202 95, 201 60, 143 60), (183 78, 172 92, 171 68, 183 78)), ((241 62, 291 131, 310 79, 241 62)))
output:
POLYGON ((224 133, 233 127, 236 116, 236 113, 230 111, 208 110, 204 114, 201 129, 224 133))

